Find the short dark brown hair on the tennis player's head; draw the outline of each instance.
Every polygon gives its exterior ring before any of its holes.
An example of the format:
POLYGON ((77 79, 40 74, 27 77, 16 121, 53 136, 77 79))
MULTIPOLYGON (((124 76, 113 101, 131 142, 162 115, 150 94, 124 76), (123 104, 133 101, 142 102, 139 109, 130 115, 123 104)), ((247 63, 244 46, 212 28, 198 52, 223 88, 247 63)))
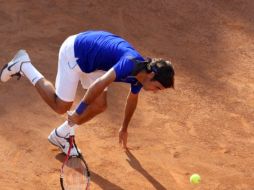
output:
POLYGON ((148 59, 147 72, 154 72, 153 80, 160 82, 165 88, 174 88, 175 71, 170 61, 153 58, 148 59))

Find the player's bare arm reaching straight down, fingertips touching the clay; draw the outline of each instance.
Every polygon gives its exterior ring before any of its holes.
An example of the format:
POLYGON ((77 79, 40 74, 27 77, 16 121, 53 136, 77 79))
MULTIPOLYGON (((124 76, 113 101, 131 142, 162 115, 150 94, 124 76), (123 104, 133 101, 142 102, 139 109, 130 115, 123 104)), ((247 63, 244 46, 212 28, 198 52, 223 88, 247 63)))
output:
POLYGON ((137 103, 138 103, 138 93, 134 94, 130 90, 125 104, 123 124, 119 129, 119 143, 123 146, 123 148, 127 148, 128 126, 133 116, 133 113, 136 110, 137 103))

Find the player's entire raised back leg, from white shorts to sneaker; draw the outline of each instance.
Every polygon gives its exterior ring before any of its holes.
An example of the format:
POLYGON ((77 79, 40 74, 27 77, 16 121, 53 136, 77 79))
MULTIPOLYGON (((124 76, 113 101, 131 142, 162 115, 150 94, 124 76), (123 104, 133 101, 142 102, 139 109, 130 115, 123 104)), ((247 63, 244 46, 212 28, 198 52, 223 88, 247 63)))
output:
POLYGON ((45 79, 44 76, 32 65, 29 55, 25 50, 18 51, 14 58, 2 68, 0 73, 1 81, 7 82, 15 75, 25 75, 36 87, 43 100, 55 112, 59 114, 65 113, 70 109, 73 103, 81 72, 78 70, 77 65, 75 65, 76 68, 73 66, 74 62, 76 64, 76 60, 73 58, 74 37, 75 36, 69 37, 60 48, 57 74, 58 81, 56 81, 56 84, 59 84, 58 89, 61 88, 58 91, 59 94, 57 94, 57 90, 54 88, 53 84, 45 79), (66 54, 68 53, 70 55, 67 56, 66 54), (73 64, 71 68, 69 67, 69 63, 73 64), (69 93, 70 91, 71 93, 69 93), (65 96, 66 92, 68 94, 65 96), (62 95, 63 98, 59 95, 62 95))

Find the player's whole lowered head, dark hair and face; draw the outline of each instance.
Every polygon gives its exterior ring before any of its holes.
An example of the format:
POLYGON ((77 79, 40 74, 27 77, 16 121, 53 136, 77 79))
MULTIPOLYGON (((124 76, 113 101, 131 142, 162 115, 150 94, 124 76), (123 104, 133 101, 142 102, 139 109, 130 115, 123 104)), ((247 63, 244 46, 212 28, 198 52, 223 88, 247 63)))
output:
POLYGON ((175 71, 169 61, 161 58, 148 58, 139 64, 144 65, 141 71, 145 72, 142 72, 143 77, 140 82, 145 90, 157 91, 174 88, 175 71))

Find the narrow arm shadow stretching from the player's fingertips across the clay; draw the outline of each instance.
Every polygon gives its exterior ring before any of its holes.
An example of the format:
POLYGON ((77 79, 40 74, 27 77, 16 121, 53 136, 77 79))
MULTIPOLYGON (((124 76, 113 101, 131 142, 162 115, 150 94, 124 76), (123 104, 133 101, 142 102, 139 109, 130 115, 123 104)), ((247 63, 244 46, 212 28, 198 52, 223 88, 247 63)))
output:
POLYGON ((126 150, 125 153, 129 158, 129 160, 126 160, 130 164, 130 166, 137 170, 139 173, 141 173, 154 186, 155 189, 166 190, 166 188, 159 181, 157 181, 142 167, 137 158, 129 150, 126 150))

